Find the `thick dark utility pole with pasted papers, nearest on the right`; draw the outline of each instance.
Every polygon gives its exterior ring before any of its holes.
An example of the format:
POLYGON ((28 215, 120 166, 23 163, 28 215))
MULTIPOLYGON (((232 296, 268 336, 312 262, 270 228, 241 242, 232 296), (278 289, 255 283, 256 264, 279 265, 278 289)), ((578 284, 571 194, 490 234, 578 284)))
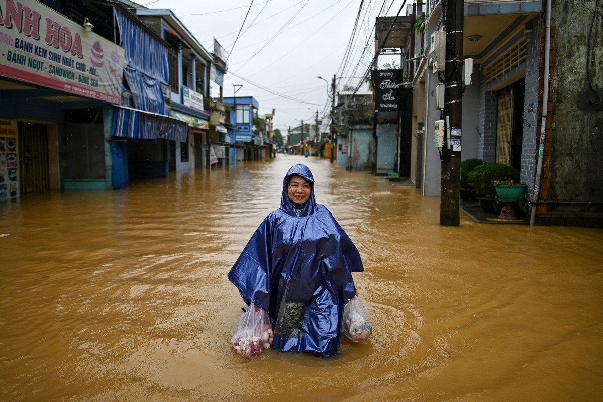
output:
MULTIPOLYGON (((458 226, 461 187, 461 122, 463 118, 464 0, 444 3, 446 71, 444 72, 444 146, 442 147, 440 225, 458 226)), ((439 74, 438 74, 439 75, 439 74)))

